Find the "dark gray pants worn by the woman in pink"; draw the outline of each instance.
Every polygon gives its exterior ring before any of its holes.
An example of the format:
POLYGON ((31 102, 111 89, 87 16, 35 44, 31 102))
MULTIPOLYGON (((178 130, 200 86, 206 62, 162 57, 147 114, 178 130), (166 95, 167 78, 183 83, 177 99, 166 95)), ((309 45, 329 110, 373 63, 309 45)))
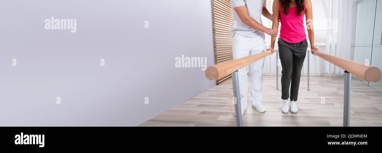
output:
POLYGON ((288 43, 278 38, 278 52, 282 66, 281 99, 297 101, 298 87, 300 86, 301 69, 303 68, 308 41, 288 43), (289 96, 290 85, 290 96, 289 96))

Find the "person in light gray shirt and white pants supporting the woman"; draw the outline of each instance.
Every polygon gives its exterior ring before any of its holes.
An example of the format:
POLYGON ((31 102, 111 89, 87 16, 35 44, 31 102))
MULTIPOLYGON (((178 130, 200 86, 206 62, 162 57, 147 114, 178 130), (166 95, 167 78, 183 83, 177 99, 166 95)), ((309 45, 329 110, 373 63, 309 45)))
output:
MULTIPOLYGON (((277 36, 278 30, 264 27, 261 15, 272 21, 272 14, 266 8, 266 0, 231 0, 233 21, 231 27, 233 59, 264 52, 264 33, 277 36)), ((251 72, 251 101, 257 112, 265 112, 262 105, 261 86, 264 59, 250 65, 251 72)), ((248 108, 248 76, 246 67, 238 70, 241 115, 248 108)), ((236 114, 234 113, 236 116, 236 114)))

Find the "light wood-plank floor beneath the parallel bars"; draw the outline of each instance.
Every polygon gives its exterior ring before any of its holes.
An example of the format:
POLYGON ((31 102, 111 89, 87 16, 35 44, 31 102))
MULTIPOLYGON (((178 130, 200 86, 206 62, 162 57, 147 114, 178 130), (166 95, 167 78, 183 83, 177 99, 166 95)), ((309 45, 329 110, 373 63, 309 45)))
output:
MULTIPOLYGON (((264 76, 262 99, 266 112, 258 113, 251 107, 248 92, 244 126, 342 126, 343 76, 311 76, 311 91, 306 91, 307 77, 302 76, 296 114, 281 112, 281 85, 276 91, 275 78, 264 76), (321 104, 321 98, 325 98, 325 104, 321 104)), ((382 126, 381 92, 353 77, 351 97, 350 126, 382 126)), ((236 126, 232 98, 229 80, 139 126, 236 126)))

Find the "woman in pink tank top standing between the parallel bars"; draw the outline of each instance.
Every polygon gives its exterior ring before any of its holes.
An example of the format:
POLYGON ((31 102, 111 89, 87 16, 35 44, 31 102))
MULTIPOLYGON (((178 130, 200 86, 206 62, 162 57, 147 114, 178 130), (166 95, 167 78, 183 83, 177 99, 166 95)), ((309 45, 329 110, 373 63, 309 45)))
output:
MULTIPOLYGON (((273 3, 273 26, 278 29, 281 22, 280 37, 278 38, 278 51, 282 66, 281 92, 283 113, 297 113, 297 97, 300 84, 301 69, 308 48, 306 40, 304 16, 312 53, 318 51, 314 47, 314 31, 312 25, 313 13, 311 0, 274 0, 273 3), (290 88, 290 90, 289 90, 290 88), (290 93, 289 93, 290 92, 290 93), (288 100, 290 99, 290 100, 288 100)), ((276 37, 271 38, 271 48, 274 49, 276 37)))

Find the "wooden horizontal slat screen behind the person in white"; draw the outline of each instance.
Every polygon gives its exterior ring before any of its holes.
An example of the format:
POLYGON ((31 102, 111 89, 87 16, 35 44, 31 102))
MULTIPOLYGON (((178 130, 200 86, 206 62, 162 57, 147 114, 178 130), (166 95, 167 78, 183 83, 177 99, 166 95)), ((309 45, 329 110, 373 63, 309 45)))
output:
MULTIPOLYGON (((212 4, 212 27, 214 34, 215 64, 231 61, 232 57, 232 8, 230 0, 211 0, 212 4)), ((216 84, 222 84, 231 78, 231 75, 216 80, 216 84)))

